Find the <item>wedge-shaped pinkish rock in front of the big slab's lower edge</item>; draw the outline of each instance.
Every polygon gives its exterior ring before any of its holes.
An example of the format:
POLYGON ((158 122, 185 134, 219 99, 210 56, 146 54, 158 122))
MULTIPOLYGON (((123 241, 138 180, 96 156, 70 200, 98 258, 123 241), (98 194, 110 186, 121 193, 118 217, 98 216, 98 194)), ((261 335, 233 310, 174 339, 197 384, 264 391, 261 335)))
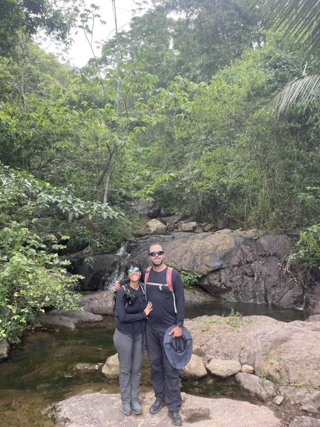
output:
POLYGON ((262 379, 249 373, 239 372, 235 375, 235 380, 251 397, 261 400, 262 402, 270 401, 276 395, 273 382, 267 379, 262 379))

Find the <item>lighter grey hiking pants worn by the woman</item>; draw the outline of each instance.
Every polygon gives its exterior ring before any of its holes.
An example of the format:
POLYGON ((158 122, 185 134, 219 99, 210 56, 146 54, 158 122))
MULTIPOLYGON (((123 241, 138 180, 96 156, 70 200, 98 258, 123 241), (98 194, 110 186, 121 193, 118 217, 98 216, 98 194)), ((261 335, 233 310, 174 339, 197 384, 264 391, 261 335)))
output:
POLYGON ((119 384, 122 403, 139 401, 141 363, 144 355, 142 333, 126 335, 115 329, 113 342, 120 362, 119 384))

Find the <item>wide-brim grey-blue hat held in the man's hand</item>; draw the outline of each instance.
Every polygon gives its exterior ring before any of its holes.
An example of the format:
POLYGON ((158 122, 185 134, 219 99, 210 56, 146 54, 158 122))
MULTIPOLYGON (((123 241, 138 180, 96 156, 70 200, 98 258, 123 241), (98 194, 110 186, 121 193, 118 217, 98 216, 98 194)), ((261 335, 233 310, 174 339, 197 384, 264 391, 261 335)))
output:
POLYGON ((173 338, 173 333, 169 335, 169 332, 175 327, 175 325, 167 328, 164 338, 164 351, 170 362, 170 364, 176 368, 181 369, 186 366, 192 356, 192 336, 185 326, 182 326, 182 335, 178 338, 173 338))

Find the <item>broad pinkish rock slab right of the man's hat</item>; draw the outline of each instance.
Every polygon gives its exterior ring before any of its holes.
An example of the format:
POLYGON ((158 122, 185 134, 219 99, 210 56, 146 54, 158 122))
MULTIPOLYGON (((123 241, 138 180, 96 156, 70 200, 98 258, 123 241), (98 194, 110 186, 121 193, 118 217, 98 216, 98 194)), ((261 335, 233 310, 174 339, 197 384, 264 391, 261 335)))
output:
MULTIPOLYGON (((313 322, 303 322, 306 326, 313 322)), ((239 360, 281 383, 320 386, 320 334, 266 316, 202 316, 185 321, 200 357, 239 360), (298 349, 298 350, 297 350, 298 349)))

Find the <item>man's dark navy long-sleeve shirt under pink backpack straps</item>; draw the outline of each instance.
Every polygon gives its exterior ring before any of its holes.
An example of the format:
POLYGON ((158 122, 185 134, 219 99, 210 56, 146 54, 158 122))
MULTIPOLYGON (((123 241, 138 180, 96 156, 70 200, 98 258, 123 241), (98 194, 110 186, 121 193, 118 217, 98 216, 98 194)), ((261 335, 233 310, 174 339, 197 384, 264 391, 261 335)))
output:
MULTIPOLYGON (((144 282, 145 271, 141 275, 141 282, 144 282)), ((167 267, 156 272, 151 268, 148 277, 148 282, 166 283, 167 267)), ((183 322, 184 318, 184 290, 180 273, 176 270, 172 271, 172 287, 175 296, 176 311, 174 312, 173 296, 169 288, 146 285, 146 300, 152 302, 152 311, 148 315, 147 321, 154 326, 171 326, 179 322, 183 322)))

